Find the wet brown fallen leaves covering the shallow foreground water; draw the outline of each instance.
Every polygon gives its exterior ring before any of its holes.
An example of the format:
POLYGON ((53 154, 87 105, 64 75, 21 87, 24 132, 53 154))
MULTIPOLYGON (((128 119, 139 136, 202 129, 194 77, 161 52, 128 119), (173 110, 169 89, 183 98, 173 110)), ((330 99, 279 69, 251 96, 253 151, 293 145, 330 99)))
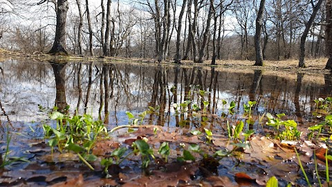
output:
MULTIPOLYGON (((178 127, 141 125, 134 129, 131 133, 126 129, 118 130, 111 134, 111 139, 95 143, 93 154, 98 156, 98 160, 92 162, 95 171, 89 170, 77 154, 57 151, 50 154, 50 148, 44 143, 32 144, 30 154, 35 154, 32 161, 21 170, 0 170, 0 186, 265 186, 272 176, 281 179, 281 184, 299 184, 302 173, 294 148, 302 161, 311 163, 304 163, 311 170, 314 170, 315 150, 320 171, 324 171, 326 149, 311 141, 291 145, 257 134, 248 139, 250 147, 215 159, 211 157, 215 152, 234 148, 234 141, 222 133, 214 132, 212 143, 207 143, 205 136, 178 127), (100 159, 109 157, 116 148, 130 148, 138 139, 147 139, 155 153, 156 159, 150 162, 148 172, 142 172, 140 157, 133 155, 119 166, 110 166, 112 175, 104 178, 100 159), (171 148, 168 162, 158 155, 163 142, 168 142, 171 148), (200 151, 208 157, 192 152, 195 161, 176 161, 190 145, 199 145, 200 151)), ((302 185, 305 186, 303 181, 302 185)))

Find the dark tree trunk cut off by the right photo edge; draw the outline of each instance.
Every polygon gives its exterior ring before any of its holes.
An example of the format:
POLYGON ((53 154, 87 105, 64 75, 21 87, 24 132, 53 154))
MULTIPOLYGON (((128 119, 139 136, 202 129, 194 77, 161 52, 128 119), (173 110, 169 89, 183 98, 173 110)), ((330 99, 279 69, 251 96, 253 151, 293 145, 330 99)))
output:
POLYGON ((325 27, 326 55, 329 60, 325 69, 332 69, 332 0, 326 0, 326 27, 325 27))

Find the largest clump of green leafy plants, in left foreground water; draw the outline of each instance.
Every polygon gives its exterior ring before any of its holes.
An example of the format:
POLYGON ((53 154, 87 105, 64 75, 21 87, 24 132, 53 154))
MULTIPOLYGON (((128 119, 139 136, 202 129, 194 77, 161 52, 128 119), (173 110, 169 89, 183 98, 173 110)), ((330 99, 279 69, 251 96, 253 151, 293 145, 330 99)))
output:
POLYGON ((44 138, 48 139, 48 145, 58 148, 59 152, 73 151, 78 157, 93 170, 88 161, 94 161, 96 157, 91 154, 91 148, 98 139, 107 138, 107 128, 101 120, 94 121, 92 116, 67 116, 60 112, 53 112, 50 118, 55 120, 56 127, 43 125, 44 138))

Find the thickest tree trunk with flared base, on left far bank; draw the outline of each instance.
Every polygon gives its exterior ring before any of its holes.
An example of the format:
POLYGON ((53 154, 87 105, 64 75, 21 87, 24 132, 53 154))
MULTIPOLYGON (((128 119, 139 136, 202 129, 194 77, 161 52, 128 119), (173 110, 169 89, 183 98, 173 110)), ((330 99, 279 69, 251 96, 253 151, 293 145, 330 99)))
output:
POLYGON ((68 1, 57 1, 57 25, 55 28, 55 39, 53 46, 48 53, 53 55, 68 55, 66 51, 66 17, 68 1))

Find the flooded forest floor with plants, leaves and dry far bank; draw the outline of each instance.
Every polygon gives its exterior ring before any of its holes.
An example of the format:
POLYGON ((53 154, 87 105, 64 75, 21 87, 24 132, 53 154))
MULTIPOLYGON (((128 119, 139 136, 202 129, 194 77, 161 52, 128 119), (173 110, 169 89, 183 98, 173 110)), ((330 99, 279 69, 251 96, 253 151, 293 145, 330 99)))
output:
POLYGON ((330 186, 326 61, 0 51, 0 186, 330 186))

